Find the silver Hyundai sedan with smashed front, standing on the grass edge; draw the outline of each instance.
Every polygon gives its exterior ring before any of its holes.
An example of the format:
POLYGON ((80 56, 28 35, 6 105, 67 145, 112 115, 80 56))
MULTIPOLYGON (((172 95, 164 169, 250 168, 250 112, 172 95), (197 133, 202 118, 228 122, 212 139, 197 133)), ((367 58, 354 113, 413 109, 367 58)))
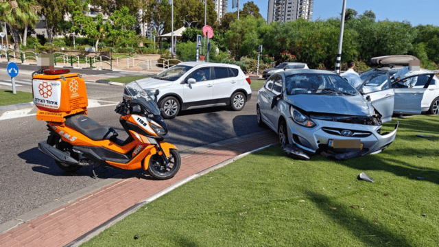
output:
POLYGON ((259 90, 257 121, 278 133, 284 150, 344 160, 379 153, 394 141, 398 124, 381 133, 393 106, 392 89, 364 94, 330 71, 283 71, 259 90))

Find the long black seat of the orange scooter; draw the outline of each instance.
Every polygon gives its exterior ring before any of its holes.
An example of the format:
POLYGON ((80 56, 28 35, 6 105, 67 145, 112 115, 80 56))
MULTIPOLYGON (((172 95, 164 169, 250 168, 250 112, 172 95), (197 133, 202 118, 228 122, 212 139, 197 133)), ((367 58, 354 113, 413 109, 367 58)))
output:
POLYGON ((117 132, 110 126, 102 126, 93 121, 90 117, 84 115, 73 115, 68 117, 64 124, 78 130, 84 136, 92 139, 93 141, 110 139, 111 137, 117 137, 117 132))

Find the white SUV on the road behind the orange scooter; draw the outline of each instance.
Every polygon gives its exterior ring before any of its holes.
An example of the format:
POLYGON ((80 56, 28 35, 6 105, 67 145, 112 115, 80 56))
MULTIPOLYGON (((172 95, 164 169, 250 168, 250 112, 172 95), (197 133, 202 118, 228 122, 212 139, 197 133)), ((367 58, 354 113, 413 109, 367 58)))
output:
POLYGON ((213 62, 181 62, 152 78, 137 80, 158 94, 158 106, 165 119, 180 110, 210 106, 230 106, 242 110, 252 96, 250 79, 237 65, 213 62))

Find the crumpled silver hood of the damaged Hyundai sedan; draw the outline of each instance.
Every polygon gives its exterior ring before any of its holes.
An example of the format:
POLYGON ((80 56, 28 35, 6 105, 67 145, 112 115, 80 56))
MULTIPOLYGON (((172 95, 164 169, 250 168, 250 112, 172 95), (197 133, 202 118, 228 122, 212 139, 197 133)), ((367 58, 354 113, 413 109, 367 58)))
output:
POLYGON ((331 113, 370 117, 374 108, 362 95, 288 95, 285 101, 308 113, 331 113))

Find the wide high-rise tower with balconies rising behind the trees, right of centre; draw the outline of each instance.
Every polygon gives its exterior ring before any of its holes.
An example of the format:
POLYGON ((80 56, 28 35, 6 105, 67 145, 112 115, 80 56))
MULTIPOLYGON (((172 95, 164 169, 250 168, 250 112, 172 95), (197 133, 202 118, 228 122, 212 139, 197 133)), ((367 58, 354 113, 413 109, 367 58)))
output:
POLYGON ((299 18, 311 20, 313 0, 268 0, 267 22, 294 21, 299 18))

